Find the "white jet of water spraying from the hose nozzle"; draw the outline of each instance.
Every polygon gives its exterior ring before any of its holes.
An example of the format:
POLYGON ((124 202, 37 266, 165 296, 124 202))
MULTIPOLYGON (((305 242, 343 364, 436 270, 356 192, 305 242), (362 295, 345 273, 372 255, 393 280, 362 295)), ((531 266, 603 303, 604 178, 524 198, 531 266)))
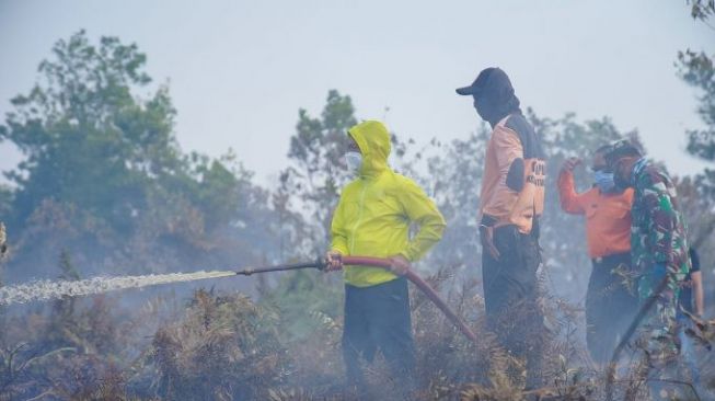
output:
POLYGON ((39 280, 0 288, 0 306, 26 303, 62 297, 81 297, 114 290, 141 288, 160 284, 194 282, 234 276, 231 271, 149 274, 143 276, 94 277, 81 280, 39 280))

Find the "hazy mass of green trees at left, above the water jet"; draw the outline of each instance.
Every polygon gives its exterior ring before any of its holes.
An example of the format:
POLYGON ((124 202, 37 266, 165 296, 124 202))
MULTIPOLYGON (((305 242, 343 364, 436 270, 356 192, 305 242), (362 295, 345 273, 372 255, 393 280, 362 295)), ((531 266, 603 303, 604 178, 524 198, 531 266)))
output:
POLYGON ((232 152, 182 153, 168 87, 136 94, 151 82, 146 61, 135 44, 80 31, 12 100, 0 140, 26 157, 0 187, 0 218, 19 233, 14 279, 46 275, 62 250, 87 275, 275 257, 269 194, 232 152))

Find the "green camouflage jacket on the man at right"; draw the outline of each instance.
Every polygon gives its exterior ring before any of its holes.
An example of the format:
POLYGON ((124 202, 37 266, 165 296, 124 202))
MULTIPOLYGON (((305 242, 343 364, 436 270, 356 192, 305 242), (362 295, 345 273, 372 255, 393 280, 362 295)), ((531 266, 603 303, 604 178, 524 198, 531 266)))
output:
POLYGON ((631 252, 633 267, 639 275, 639 298, 649 297, 667 272, 672 280, 664 295, 671 300, 690 271, 687 228, 676 186, 666 170, 649 160, 635 165, 632 183, 635 196, 631 252))

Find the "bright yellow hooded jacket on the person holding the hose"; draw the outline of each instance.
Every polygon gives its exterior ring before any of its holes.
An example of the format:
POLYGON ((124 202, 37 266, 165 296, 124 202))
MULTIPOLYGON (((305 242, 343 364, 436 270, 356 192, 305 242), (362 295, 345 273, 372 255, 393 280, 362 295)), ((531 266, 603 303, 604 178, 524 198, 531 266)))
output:
MULTIPOLYGON (((359 177, 343 188, 333 215, 334 251, 343 255, 388 257, 397 254, 410 261, 422 257, 445 230, 445 219, 417 184, 388 165, 390 134, 374 121, 348 130, 362 153, 359 177), (419 231, 410 238, 410 225, 419 231)), ((345 267, 345 282, 368 287, 397 278, 377 267, 345 267)))

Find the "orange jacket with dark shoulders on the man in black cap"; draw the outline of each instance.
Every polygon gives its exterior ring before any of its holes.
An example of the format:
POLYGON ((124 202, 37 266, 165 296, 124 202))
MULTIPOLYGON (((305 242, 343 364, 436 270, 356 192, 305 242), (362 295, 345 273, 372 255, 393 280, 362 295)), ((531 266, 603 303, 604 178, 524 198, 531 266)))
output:
POLYGON ((545 161, 541 140, 521 114, 501 119, 486 147, 482 224, 516 225, 531 232, 544 210, 545 161))

